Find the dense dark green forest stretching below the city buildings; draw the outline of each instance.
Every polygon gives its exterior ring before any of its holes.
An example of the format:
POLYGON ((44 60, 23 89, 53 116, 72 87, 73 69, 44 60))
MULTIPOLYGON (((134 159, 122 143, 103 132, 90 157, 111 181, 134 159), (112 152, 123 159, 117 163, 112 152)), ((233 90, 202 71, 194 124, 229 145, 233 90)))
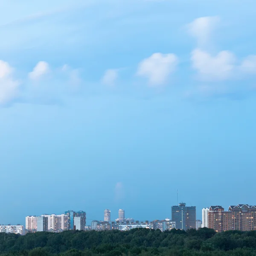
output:
POLYGON ((256 256, 256 231, 134 229, 0 233, 0 256, 256 256))

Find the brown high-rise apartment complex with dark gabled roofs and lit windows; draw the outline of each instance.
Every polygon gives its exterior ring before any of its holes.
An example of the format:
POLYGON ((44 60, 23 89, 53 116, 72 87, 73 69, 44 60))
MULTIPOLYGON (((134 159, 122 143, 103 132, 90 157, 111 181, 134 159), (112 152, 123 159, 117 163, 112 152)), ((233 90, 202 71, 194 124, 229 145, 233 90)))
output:
POLYGON ((228 211, 221 206, 209 208, 209 228, 216 232, 227 230, 256 230, 256 205, 231 205, 228 211))

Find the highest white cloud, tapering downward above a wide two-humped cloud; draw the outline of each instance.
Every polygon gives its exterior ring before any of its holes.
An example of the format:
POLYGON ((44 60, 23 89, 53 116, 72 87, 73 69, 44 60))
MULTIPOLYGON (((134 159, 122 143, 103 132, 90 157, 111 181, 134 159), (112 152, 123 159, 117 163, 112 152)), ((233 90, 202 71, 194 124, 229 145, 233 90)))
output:
POLYGON ((218 16, 200 17, 188 25, 189 33, 197 39, 199 47, 204 47, 209 43, 210 36, 219 21, 218 16))

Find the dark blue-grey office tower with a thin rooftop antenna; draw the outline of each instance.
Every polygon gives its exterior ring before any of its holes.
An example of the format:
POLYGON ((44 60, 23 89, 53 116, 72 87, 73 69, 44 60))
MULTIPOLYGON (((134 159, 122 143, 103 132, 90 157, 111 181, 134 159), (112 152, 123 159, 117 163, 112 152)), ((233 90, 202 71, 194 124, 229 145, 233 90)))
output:
POLYGON ((196 227, 195 206, 186 207, 185 203, 172 206, 172 221, 175 221, 176 229, 188 230, 196 227))

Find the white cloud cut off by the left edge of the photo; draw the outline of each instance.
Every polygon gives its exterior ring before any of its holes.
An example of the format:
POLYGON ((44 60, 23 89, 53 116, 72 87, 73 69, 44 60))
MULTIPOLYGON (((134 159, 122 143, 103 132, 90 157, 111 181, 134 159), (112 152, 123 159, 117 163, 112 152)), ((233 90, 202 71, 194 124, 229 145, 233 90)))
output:
POLYGON ((5 61, 0 60, 0 104, 6 104, 18 93, 20 82, 13 78, 13 69, 5 61))

